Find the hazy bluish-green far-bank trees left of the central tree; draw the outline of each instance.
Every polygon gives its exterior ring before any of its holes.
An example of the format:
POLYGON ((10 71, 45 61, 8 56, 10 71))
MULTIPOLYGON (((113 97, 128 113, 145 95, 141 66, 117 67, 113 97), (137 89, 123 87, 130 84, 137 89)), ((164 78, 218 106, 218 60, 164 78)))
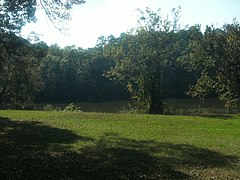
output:
POLYGON ((41 65, 44 90, 37 100, 65 103, 126 98, 124 88, 103 76, 112 63, 99 48, 52 45, 41 65))

